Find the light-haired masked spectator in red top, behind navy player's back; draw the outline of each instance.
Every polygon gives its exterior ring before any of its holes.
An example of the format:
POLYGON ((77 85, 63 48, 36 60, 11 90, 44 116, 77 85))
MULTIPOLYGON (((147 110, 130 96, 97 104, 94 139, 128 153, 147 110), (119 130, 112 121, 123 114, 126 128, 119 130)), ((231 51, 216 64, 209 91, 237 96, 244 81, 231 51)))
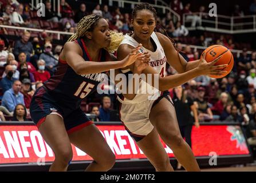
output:
POLYGON ((50 73, 45 70, 45 61, 40 59, 37 61, 38 70, 34 72, 34 78, 37 81, 45 82, 50 78, 50 73))

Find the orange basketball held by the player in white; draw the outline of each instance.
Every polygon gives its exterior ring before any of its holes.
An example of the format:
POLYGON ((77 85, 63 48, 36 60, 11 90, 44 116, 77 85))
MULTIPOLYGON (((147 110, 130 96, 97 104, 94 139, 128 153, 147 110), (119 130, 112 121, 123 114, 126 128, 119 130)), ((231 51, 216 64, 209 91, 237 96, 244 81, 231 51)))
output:
MULTIPOLYGON (((233 66, 234 66, 234 57, 231 53, 231 51, 229 49, 227 49, 227 47, 222 46, 222 45, 212 45, 207 47, 207 49, 205 49, 203 51, 203 53, 206 52, 206 61, 207 62, 211 62, 214 61, 214 59, 218 58, 220 55, 222 55, 222 57, 219 59, 218 62, 215 63, 215 65, 223 65, 223 64, 228 64, 229 66, 220 69, 220 70, 226 70, 227 73, 222 74, 222 75, 209 75, 212 78, 223 78, 225 77, 227 74, 230 73, 230 71, 232 70, 233 66)), ((202 55, 203 55, 202 53, 202 55)), ((201 57, 202 57, 201 55, 201 57)))

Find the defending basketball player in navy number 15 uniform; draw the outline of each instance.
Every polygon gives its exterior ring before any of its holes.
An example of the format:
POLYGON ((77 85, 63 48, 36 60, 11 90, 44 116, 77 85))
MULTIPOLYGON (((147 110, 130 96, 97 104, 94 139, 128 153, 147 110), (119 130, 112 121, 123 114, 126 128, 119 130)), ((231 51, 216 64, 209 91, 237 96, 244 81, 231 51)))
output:
POLYGON ((57 71, 34 94, 31 118, 55 154, 50 171, 68 169, 73 156, 70 143, 93 158, 86 168, 88 171, 106 171, 115 164, 115 154, 82 112, 80 103, 103 81, 104 71, 131 65, 135 60, 149 61, 137 53, 140 47, 121 61, 114 61, 107 50, 117 49, 122 38, 109 31, 104 18, 97 15, 82 18, 77 33, 61 51, 57 71))

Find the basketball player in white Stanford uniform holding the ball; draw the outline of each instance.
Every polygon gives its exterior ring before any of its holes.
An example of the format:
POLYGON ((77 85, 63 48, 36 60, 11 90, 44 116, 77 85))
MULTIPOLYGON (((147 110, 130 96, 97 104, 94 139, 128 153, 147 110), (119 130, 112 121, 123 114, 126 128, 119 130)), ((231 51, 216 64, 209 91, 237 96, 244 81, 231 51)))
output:
MULTIPOLYGON (((159 90, 165 91, 171 87, 182 85, 198 75, 214 73, 220 75, 225 71, 218 70, 227 65, 214 66, 219 58, 210 63, 205 61, 205 55, 198 61, 187 63, 179 56, 174 42, 163 34, 155 33, 156 10, 148 3, 135 6, 132 12, 133 33, 126 34, 117 50, 117 59, 125 58, 129 52, 139 45, 143 46, 143 52, 151 55, 149 65, 137 67, 136 63, 121 69, 122 73, 160 74, 159 90), (164 77, 166 62, 181 74, 164 77)), ((143 83, 143 81, 141 81, 143 83)), ((143 84, 140 85, 142 87, 143 84)), ((158 91, 159 91, 158 90, 158 91)), ((149 100, 149 94, 123 94, 118 97, 121 102, 120 118, 125 129, 136 141, 148 160, 157 171, 174 170, 170 164, 168 154, 159 140, 162 140, 172 149, 177 160, 188 171, 199 171, 190 146, 183 140, 175 108, 166 92, 155 92, 149 100), (160 97, 158 97, 160 94, 160 97)))

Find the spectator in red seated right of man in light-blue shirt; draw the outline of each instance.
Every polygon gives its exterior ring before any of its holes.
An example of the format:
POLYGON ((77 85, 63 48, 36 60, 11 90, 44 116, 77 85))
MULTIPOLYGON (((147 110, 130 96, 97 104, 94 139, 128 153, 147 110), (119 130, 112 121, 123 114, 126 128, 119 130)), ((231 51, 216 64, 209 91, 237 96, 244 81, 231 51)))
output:
POLYGON ((24 97, 25 106, 27 109, 29 109, 31 99, 34 94, 34 90, 31 90, 30 79, 25 78, 22 80, 21 93, 23 94, 23 97, 24 97))

